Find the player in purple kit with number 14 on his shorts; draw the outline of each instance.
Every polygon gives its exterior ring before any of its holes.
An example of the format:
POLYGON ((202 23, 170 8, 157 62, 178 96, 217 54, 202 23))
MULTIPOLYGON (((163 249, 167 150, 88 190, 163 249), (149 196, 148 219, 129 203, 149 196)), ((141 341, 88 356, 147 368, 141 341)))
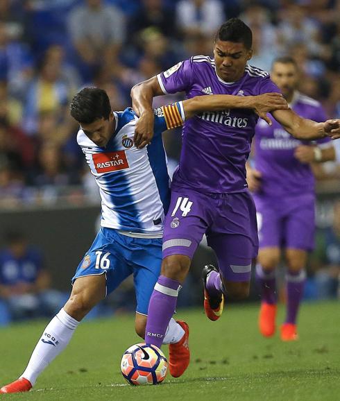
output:
MULTIPOLYGON (((216 34, 214 59, 194 56, 133 87, 133 107, 139 115, 135 144, 143 147, 151 142, 153 96, 181 91, 187 98, 280 92, 266 71, 247 65, 251 46, 250 28, 240 19, 229 19, 216 34)), ((273 117, 294 137, 316 139, 340 133, 338 120, 315 123, 290 109, 273 110, 273 117)), ((219 262, 219 271, 213 267, 204 271, 207 316, 219 318, 226 294, 238 299, 248 296, 258 240, 246 160, 256 123, 257 115, 247 109, 205 112, 186 121, 164 225, 162 271, 148 306, 146 343, 162 345, 178 291, 204 233, 219 262)), ((187 339, 175 357, 182 374, 189 361, 187 339)))

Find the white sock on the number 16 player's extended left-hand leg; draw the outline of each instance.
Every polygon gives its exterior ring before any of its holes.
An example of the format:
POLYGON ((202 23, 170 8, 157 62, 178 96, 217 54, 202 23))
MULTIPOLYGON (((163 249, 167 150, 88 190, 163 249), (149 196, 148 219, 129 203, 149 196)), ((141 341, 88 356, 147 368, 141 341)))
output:
POLYGON ((78 324, 76 319, 69 316, 64 309, 60 309, 60 312, 46 326, 35 345, 27 368, 20 377, 28 379, 33 386, 42 370, 64 350, 78 324))

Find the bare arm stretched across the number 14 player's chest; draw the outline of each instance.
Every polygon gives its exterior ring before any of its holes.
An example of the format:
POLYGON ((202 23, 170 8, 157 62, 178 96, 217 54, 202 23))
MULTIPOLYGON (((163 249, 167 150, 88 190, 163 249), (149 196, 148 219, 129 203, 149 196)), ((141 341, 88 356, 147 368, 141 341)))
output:
POLYGON ((271 125, 271 120, 266 115, 267 112, 289 109, 287 101, 280 93, 266 93, 258 96, 202 95, 182 101, 182 104, 187 119, 199 112, 241 108, 254 110, 269 125, 271 125))

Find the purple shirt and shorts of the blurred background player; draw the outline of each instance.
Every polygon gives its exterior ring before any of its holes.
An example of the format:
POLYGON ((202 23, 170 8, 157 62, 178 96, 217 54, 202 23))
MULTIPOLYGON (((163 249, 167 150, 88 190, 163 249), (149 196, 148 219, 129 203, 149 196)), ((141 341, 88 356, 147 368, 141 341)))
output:
MULTIPOLYGON (((325 121, 325 112, 314 99, 295 92, 291 108, 300 116, 325 121)), ((292 138, 277 121, 269 126, 260 119, 255 128, 255 169, 260 171, 261 189, 253 195, 257 209, 260 247, 314 248, 314 174, 294 155, 307 141, 292 138), (287 223, 278 225, 284 216, 287 223)), ((321 148, 331 139, 318 139, 321 148)))

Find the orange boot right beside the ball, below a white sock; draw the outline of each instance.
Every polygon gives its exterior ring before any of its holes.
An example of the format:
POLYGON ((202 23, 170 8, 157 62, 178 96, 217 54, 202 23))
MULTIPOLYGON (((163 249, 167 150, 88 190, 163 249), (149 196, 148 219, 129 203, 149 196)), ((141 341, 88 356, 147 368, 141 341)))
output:
POLYGON ((178 343, 169 344, 169 370, 172 377, 180 377, 189 366, 189 326, 183 321, 177 321, 184 330, 184 335, 178 343))

